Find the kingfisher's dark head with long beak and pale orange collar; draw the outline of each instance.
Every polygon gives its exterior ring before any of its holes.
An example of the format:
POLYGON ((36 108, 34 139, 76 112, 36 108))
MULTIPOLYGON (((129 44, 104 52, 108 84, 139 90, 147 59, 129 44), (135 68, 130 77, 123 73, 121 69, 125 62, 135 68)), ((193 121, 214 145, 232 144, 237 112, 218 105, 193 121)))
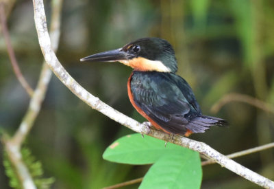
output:
POLYGON ((177 71, 177 60, 171 44, 162 38, 140 38, 127 45, 92 54, 81 61, 120 62, 137 71, 177 71))

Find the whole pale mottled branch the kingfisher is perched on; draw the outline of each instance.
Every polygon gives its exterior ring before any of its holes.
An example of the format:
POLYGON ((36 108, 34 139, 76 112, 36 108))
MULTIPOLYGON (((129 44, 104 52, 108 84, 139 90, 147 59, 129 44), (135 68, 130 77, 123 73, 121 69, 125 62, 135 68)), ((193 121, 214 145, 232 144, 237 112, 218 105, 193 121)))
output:
POLYGON ((100 111, 104 115, 107 115, 112 120, 127 126, 127 128, 132 129, 141 134, 150 135, 152 137, 158 138, 160 140, 165 140, 167 142, 172 142, 174 144, 178 144, 180 146, 184 146, 186 148, 190 148, 194 151, 197 151, 206 157, 213 159, 214 162, 217 162, 221 166, 232 170, 234 173, 252 181, 259 186, 264 188, 274 188, 274 182, 254 173, 252 170, 241 166, 240 164, 234 162, 232 159, 225 157, 221 153, 215 151, 213 148, 208 146, 203 142, 197 142, 195 140, 190 140, 189 138, 182 137, 179 135, 175 135, 172 137, 169 134, 163 133, 162 131, 157 131, 153 127, 149 128, 146 124, 140 124, 133 120, 132 118, 127 117, 123 113, 116 111, 112 107, 105 104, 99 98, 92 96, 92 94, 88 93, 86 89, 84 89, 81 85, 79 85, 67 71, 62 67, 58 58, 55 56, 53 50, 51 49, 51 41, 49 38, 49 34, 47 32, 47 21, 44 10, 44 5, 42 0, 33 0, 34 3, 34 20, 36 24, 36 30, 38 33, 38 39, 40 43, 40 47, 42 50, 42 54, 45 57, 45 60, 54 74, 68 87, 75 95, 86 102, 92 109, 96 109, 100 111))

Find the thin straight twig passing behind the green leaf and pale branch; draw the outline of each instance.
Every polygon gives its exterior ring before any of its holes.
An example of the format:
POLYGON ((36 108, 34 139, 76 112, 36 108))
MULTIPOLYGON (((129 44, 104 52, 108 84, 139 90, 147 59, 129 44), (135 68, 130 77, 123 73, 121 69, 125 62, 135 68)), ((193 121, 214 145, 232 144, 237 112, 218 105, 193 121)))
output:
MULTIPOLYGON (((240 157, 240 156, 243 156, 243 155, 248 155, 248 154, 256 153, 256 152, 259 152, 259 151, 264 151, 266 149, 273 148, 273 147, 274 147, 274 142, 270 143, 270 144, 265 144, 265 145, 262 145, 262 146, 258 146, 258 147, 255 147, 255 148, 250 148, 250 149, 247 149, 245 151, 232 153, 232 154, 227 155, 227 157, 232 159, 232 158, 235 158, 235 157, 240 157)), ((215 164, 215 163, 216 162, 214 162, 210 159, 210 160, 201 162, 201 166, 207 166, 207 165, 215 164)), ((123 187, 123 186, 129 186, 129 185, 132 185, 132 184, 140 183, 142 181, 142 179, 144 179, 144 177, 140 177, 138 179, 132 179, 130 181, 125 181, 125 182, 122 182, 122 183, 119 183, 119 184, 115 184, 115 185, 112 185, 112 186, 105 187, 103 189, 114 189, 114 188, 120 188, 120 187, 123 187)))

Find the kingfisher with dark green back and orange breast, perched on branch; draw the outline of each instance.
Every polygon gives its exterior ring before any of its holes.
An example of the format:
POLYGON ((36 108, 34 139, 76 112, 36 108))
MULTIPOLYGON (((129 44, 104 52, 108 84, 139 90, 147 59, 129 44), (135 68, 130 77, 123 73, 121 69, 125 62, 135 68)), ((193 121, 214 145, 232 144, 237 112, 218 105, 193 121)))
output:
POLYGON ((190 85, 176 75, 173 47, 162 38, 140 38, 119 49, 81 59, 87 60, 120 62, 134 69, 127 80, 129 100, 155 129, 188 137, 214 125, 227 125, 221 118, 201 113, 190 85))

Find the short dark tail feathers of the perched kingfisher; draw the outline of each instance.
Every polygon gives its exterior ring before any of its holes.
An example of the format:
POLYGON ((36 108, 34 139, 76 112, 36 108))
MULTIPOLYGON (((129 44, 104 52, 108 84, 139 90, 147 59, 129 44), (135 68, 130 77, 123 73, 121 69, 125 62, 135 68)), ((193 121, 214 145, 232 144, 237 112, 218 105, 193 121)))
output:
POLYGON ((204 133, 210 126, 228 126, 227 121, 221 118, 214 118, 208 115, 201 115, 201 117, 194 118, 186 125, 186 128, 192 133, 204 133))

